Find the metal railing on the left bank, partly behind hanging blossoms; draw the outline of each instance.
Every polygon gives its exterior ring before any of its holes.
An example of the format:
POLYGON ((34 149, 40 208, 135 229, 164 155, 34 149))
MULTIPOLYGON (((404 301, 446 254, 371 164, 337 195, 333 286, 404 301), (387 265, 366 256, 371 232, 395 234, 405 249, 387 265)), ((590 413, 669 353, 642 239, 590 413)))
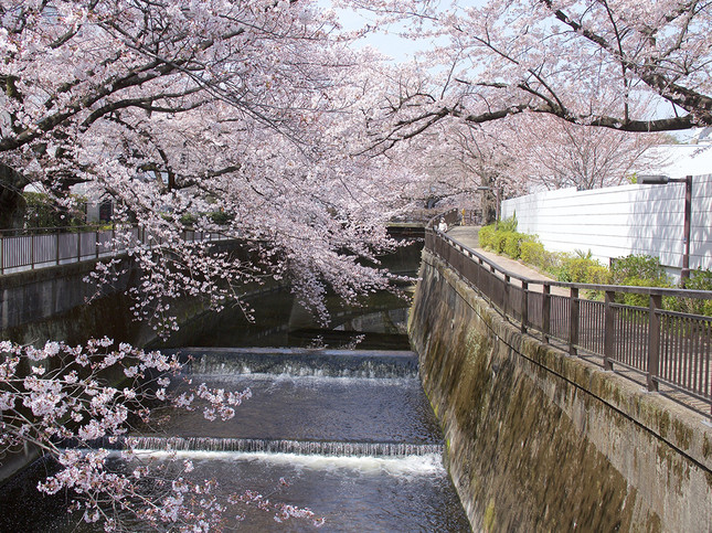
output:
MULTIPOLYGON (((188 242, 222 241, 220 233, 183 230, 188 242)), ((0 231, 0 275, 70 263, 96 260, 126 253, 130 247, 160 246, 161 237, 142 227, 92 226, 0 231), (121 235, 117 239, 117 235, 121 235)))

